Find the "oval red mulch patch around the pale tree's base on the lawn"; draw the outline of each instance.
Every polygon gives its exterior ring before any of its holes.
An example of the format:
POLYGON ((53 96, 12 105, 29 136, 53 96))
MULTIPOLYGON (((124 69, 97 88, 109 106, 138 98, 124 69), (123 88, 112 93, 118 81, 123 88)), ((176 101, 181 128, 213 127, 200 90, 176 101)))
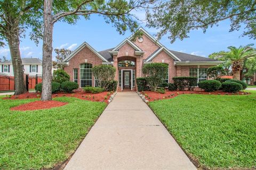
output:
POLYGON ((34 111, 34 110, 40 110, 40 109, 49 109, 53 107, 60 107, 67 105, 68 103, 64 103, 61 101, 33 101, 30 103, 26 103, 23 105, 19 105, 16 107, 12 107, 11 111, 34 111))

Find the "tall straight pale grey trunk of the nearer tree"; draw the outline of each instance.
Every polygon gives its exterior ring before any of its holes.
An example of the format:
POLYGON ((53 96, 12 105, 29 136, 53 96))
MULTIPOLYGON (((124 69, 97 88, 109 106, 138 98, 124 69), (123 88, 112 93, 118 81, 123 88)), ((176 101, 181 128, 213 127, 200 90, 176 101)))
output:
POLYGON ((42 101, 52 100, 52 0, 44 1, 42 101))

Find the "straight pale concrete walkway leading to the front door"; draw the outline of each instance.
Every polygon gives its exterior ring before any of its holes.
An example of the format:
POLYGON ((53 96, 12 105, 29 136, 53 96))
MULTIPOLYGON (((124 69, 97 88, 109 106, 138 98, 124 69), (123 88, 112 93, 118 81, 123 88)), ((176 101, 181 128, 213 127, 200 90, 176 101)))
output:
POLYGON ((118 92, 66 170, 196 169, 135 92, 118 92))

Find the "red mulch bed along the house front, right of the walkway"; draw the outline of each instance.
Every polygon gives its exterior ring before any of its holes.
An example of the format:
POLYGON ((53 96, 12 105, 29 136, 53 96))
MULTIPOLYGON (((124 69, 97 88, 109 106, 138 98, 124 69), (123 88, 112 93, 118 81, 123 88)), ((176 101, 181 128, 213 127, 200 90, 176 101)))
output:
POLYGON ((143 91, 141 94, 145 95, 148 101, 160 100, 160 99, 169 99, 174 98, 178 95, 182 94, 202 94, 202 95, 247 95, 247 92, 238 92, 228 93, 223 91, 214 91, 214 92, 206 92, 206 91, 166 91, 165 94, 160 94, 158 92, 153 91, 143 91))

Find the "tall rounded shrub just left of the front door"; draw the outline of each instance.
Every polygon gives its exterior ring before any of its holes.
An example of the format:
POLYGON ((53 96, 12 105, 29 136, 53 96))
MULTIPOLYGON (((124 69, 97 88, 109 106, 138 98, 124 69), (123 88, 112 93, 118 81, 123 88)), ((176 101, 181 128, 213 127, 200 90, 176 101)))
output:
POLYGON ((99 82, 99 87, 107 90, 108 83, 115 78, 116 68, 111 65, 95 65, 92 68, 92 73, 95 79, 99 82))

